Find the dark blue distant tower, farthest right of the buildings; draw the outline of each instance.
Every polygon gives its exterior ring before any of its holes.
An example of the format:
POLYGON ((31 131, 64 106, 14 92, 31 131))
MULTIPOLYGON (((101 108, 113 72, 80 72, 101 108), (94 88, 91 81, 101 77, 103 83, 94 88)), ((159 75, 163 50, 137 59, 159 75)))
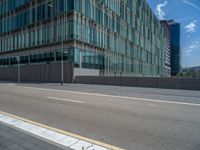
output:
POLYGON ((174 20, 167 23, 170 27, 171 75, 175 76, 181 70, 180 23, 174 20))

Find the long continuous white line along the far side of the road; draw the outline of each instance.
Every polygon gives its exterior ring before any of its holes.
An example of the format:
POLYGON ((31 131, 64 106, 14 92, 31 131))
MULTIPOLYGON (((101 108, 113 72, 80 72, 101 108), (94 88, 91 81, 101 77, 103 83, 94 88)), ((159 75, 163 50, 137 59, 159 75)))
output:
POLYGON ((155 102, 155 103, 200 106, 200 104, 197 104, 197 103, 173 102, 173 101, 159 100, 159 99, 147 99, 147 98, 128 97, 128 96, 114 96, 114 95, 106 95, 106 94, 99 94, 99 93, 87 93, 87 92, 77 92, 77 91, 67 91, 67 90, 45 89, 45 88, 29 87, 29 86, 17 86, 17 87, 21 87, 24 89, 35 89, 35 90, 52 91, 52 92, 64 92, 64 93, 71 93, 71 94, 92 95, 92 96, 111 97, 111 98, 120 98, 120 99, 132 99, 132 100, 137 100, 137 101, 149 101, 149 102, 155 102))

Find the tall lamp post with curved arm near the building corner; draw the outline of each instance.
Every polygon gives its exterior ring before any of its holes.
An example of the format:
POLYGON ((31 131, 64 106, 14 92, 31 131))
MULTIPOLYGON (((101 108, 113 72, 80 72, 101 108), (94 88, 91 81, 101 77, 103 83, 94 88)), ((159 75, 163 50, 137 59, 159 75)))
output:
MULTIPOLYGON (((63 30, 63 25, 65 23, 65 13, 61 12, 60 10, 56 9, 51 3, 48 3, 48 7, 54 9, 56 12, 58 12, 60 14, 60 22, 61 22, 61 16, 63 16, 64 18, 62 19, 63 23, 62 23, 62 30, 63 30)), ((62 31, 62 37, 61 37, 61 86, 63 85, 64 82, 64 60, 63 60, 63 43, 64 43, 64 31, 62 31)))

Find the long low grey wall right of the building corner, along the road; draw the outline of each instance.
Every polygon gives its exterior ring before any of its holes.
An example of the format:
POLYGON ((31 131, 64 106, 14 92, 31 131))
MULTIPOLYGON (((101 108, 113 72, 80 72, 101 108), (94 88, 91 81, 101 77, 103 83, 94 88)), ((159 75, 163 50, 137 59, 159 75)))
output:
POLYGON ((75 83, 200 90, 200 78, 76 76, 75 83))

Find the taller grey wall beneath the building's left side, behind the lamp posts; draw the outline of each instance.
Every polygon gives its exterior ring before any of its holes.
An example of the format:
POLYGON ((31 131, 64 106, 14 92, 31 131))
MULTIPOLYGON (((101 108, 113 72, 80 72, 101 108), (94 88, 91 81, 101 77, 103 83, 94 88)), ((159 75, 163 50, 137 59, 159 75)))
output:
MULTIPOLYGON (((17 81, 17 66, 0 68, 0 80, 17 81)), ((39 64, 20 67, 20 79, 27 82, 60 82, 60 64, 39 64)), ((64 64, 64 82, 71 83, 73 79, 72 64, 64 64)))

